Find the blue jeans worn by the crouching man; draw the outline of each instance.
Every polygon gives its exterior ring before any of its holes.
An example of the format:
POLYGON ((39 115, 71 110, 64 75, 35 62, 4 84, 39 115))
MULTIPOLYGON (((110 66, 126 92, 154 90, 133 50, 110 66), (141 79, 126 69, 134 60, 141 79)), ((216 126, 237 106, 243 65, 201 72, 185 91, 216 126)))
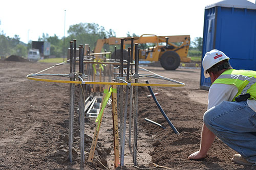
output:
POLYGON ((230 148, 256 163, 256 112, 244 102, 222 102, 204 113, 204 124, 230 148))

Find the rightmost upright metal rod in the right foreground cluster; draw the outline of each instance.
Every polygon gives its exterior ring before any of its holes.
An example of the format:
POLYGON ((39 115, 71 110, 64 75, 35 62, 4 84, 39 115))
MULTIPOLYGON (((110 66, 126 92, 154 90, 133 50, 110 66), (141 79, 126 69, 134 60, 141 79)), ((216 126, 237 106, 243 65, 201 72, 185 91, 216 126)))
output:
MULTIPOLYGON (((139 55, 138 55, 138 43, 135 43, 135 74, 139 73, 139 55)), ((138 79, 135 79, 135 83, 138 83, 138 79)), ((137 165, 137 137, 138 137, 138 86, 135 87, 134 96, 134 148, 133 148, 133 164, 137 165)))

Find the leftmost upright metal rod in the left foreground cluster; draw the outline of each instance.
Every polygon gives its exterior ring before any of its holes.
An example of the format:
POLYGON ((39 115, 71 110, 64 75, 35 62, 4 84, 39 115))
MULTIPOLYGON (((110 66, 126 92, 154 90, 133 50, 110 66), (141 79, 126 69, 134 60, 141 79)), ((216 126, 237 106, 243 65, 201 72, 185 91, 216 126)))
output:
MULTIPOLYGON (((73 72, 73 42, 70 41, 70 73, 73 72)), ((74 80, 70 78, 70 81, 74 80)), ((74 84, 69 85, 69 161, 72 162, 72 145, 73 145, 73 122, 74 122, 74 84)))

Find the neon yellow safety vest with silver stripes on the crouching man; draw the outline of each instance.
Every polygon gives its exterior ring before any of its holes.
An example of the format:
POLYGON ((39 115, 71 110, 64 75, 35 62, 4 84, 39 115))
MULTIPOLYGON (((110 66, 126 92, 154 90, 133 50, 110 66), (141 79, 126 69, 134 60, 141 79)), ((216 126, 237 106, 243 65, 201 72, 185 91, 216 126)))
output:
POLYGON ((212 84, 215 83, 235 85, 238 88, 238 93, 234 98, 241 93, 249 93, 251 95, 249 99, 256 100, 256 71, 228 69, 212 84))

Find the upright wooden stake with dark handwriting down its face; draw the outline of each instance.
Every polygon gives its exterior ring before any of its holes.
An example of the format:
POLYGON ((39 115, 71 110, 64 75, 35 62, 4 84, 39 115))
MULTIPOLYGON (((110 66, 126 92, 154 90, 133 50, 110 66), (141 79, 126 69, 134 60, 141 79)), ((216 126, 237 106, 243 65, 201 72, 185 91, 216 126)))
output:
POLYGON ((112 85, 112 118, 113 118, 113 134, 114 134, 114 154, 115 168, 119 166, 119 141, 118 141, 118 118, 117 118, 117 90, 116 85, 112 85))

